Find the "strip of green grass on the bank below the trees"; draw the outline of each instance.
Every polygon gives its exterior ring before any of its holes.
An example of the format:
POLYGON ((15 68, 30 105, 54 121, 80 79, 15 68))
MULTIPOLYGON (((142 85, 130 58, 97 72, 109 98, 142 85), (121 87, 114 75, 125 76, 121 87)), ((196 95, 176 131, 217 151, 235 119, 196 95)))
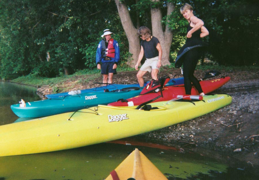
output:
MULTIPOLYGON (((161 67, 161 72, 164 70, 168 70, 170 68, 175 68, 174 63, 171 65, 167 65, 164 67, 161 67)), ((245 70, 252 70, 252 69, 257 69, 259 70, 258 66, 223 66, 223 65, 213 65, 213 64, 205 64, 205 65, 200 65, 198 64, 196 67, 197 70, 218 70, 218 71, 245 71, 245 70)), ((127 72, 127 71, 136 71, 134 68, 130 68, 127 66, 119 66, 117 68, 117 72, 127 72)), ((77 71, 76 73, 72 75, 62 75, 60 77, 56 78, 45 78, 45 77, 37 77, 33 75, 28 75, 28 76, 21 76, 16 79, 10 80, 12 83, 19 83, 23 85, 31 85, 35 87, 41 87, 44 85, 49 85, 52 88, 55 88, 55 85, 57 84, 63 84, 69 81, 77 81, 78 84, 84 84, 88 82, 92 82, 96 78, 100 77, 100 70, 80 70, 77 71)), ((101 80, 100 80, 101 81, 101 80)), ((64 90, 64 89, 63 89, 64 90)))

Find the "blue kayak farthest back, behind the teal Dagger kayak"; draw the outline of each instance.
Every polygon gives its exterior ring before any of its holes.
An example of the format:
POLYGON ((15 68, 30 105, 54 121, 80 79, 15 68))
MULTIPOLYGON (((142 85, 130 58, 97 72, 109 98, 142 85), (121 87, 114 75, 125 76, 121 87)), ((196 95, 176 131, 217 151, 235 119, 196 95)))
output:
MULTIPOLYGON (((146 82, 144 84, 144 86, 146 86, 146 84, 149 83, 146 82)), ((103 84, 103 83, 99 83, 99 84, 103 84)), ((184 78, 174 78, 174 79, 170 79, 170 81, 165 85, 165 86, 171 86, 171 85, 180 85, 180 84, 184 84, 184 78)), ((46 98, 48 99, 55 99, 55 98, 63 98, 64 96, 70 96, 70 95, 76 95, 76 94, 83 94, 83 93, 93 93, 93 92, 100 92, 100 91, 113 91, 116 89, 123 89, 123 88, 128 88, 128 87, 139 87, 139 84, 127 84, 127 85, 123 85, 123 84, 107 84, 105 86, 101 86, 101 87, 94 87, 94 88, 90 88, 90 89, 83 89, 83 90, 76 90, 76 91, 69 91, 69 92, 64 92, 64 93, 56 93, 56 94, 48 94, 45 95, 46 98)))

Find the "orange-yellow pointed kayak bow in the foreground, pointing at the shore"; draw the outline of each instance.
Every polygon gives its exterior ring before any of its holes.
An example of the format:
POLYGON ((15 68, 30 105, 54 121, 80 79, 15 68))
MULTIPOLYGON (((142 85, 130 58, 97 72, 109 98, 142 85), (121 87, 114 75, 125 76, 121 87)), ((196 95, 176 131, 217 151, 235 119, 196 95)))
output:
POLYGON ((138 149, 121 162, 105 180, 168 180, 138 149))

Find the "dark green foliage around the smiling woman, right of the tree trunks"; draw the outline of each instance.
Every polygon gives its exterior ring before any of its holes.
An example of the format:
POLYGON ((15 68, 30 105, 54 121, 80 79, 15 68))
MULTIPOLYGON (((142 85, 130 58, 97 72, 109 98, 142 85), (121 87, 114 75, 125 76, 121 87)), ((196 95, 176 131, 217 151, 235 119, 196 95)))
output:
MULTIPOLYGON (((175 1, 176 11, 170 18, 174 30, 172 54, 174 59, 186 34, 186 21, 180 14, 183 1, 175 1)), ((258 64, 258 1, 193 0, 189 1, 195 16, 204 21, 210 35, 209 56, 221 65, 258 64)))

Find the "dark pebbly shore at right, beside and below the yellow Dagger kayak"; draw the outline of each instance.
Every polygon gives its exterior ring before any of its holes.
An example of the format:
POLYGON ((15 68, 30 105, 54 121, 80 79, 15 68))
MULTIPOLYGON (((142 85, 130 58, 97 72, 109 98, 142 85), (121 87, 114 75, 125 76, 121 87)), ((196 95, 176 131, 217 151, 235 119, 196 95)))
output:
POLYGON ((219 158, 231 166, 259 167, 258 85, 257 90, 249 94, 226 92, 226 86, 214 93, 231 95, 233 100, 230 105, 156 132, 142 134, 143 138, 219 158))

